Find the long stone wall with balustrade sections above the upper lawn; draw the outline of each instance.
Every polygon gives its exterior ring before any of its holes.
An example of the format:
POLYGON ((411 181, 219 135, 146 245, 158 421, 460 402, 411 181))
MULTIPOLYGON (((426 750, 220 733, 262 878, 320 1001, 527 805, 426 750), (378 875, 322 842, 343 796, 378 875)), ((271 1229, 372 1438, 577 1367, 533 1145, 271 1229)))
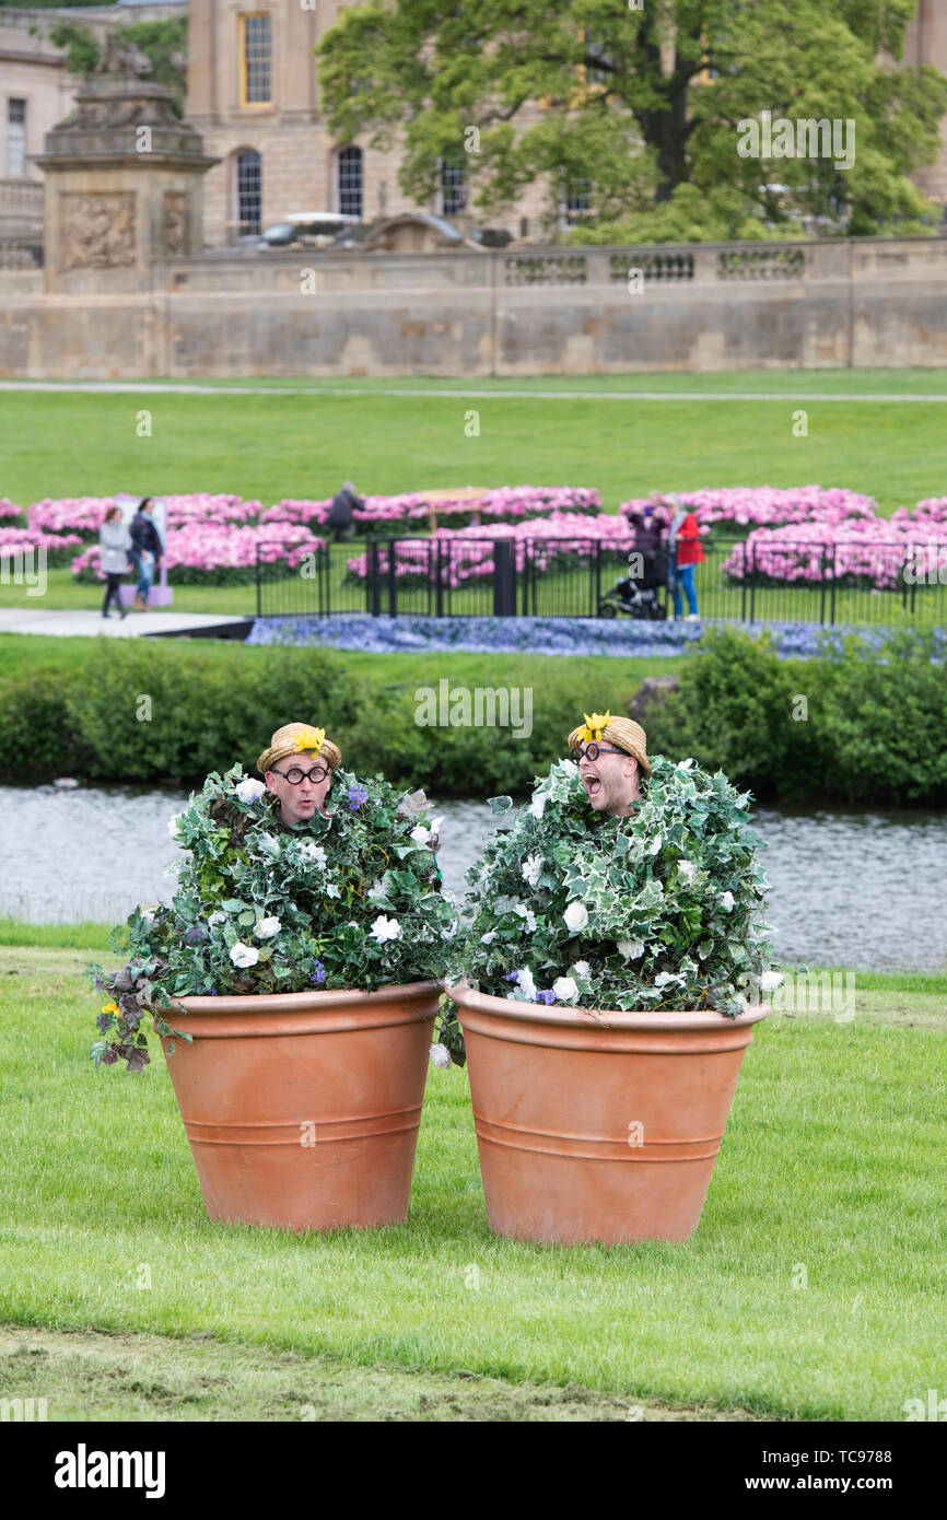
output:
POLYGON ((198 254, 125 296, 38 298, 0 272, 5 377, 848 365, 947 365, 947 240, 198 254))

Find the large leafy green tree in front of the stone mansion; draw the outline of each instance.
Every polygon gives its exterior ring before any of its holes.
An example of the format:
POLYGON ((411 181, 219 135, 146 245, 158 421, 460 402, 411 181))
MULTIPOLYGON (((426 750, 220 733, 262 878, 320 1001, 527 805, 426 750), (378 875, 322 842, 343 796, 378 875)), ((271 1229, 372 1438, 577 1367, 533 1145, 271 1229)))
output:
POLYGON ((552 226, 588 185, 585 239, 792 234, 804 216, 915 231, 936 213, 906 175, 936 158, 947 111, 942 74, 892 62, 917 5, 374 0, 344 11, 319 71, 336 138, 400 134, 421 202, 461 155, 483 216, 547 176, 552 226), (765 111, 854 122, 854 161, 740 157, 740 123, 765 111))

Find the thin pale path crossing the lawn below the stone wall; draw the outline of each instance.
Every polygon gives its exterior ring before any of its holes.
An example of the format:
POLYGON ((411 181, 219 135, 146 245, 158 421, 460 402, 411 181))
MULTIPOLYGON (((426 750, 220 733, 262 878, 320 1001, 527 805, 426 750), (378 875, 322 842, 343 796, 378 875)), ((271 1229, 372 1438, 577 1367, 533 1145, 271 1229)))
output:
POLYGON ((230 386, 230 385, 155 385, 147 380, 0 380, 0 391, 82 391, 91 394, 114 395, 331 395, 331 397, 365 397, 365 395, 409 395, 409 397, 471 397, 480 401, 496 401, 503 397, 515 397, 526 401, 941 401, 944 395, 904 395, 901 392, 885 392, 879 395, 815 391, 471 391, 467 386, 456 389, 348 389, 344 386, 230 386))

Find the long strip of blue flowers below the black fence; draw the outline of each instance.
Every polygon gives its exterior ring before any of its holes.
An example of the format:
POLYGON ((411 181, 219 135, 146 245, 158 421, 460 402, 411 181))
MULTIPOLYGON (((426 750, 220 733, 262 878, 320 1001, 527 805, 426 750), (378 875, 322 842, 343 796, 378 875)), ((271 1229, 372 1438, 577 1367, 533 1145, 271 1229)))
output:
MULTIPOLYGON (((465 649, 471 654, 535 655, 679 655, 719 620, 608 622, 600 617, 257 617, 248 644, 331 644, 366 654, 421 649, 465 649)), ((822 628, 819 623, 742 623, 749 634, 769 632, 784 660, 841 654, 842 641, 859 634, 882 649, 885 628, 822 628)), ((938 629, 947 657, 947 629, 938 629)))

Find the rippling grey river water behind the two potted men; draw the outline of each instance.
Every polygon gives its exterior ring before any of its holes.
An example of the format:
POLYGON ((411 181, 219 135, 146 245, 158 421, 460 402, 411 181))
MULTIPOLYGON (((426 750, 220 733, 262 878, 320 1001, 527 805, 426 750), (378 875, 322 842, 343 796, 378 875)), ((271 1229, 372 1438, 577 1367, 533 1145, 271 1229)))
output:
MULTIPOLYGON (((132 786, 0 787, 0 917, 119 923, 169 900, 167 833, 187 793, 132 786)), ((464 874, 496 819, 480 801, 438 803, 438 863, 464 874)), ((947 813, 754 810, 766 850, 775 958, 860 971, 947 970, 947 813)), ((2 955, 2 952, 0 952, 2 955)))

